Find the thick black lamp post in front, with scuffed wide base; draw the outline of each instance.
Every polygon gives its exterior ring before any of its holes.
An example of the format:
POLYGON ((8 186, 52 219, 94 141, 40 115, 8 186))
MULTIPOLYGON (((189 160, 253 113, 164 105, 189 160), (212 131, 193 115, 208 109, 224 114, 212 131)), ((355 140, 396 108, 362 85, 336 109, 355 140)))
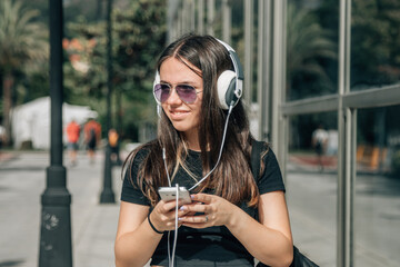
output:
POLYGON ((41 196, 39 267, 71 267, 71 195, 62 166, 62 0, 50 4, 51 147, 47 187, 41 196))

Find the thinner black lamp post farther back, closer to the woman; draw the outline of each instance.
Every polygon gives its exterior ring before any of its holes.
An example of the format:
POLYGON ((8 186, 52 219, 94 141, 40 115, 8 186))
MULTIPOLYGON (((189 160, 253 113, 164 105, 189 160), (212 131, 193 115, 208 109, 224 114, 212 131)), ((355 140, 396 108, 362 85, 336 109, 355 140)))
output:
POLYGON ((104 176, 103 176, 103 189, 100 195, 101 204, 116 202, 114 194, 112 191, 112 167, 111 167, 111 148, 108 141, 108 132, 111 128, 111 90, 112 90, 112 53, 111 53, 111 9, 112 0, 107 0, 107 146, 104 151, 104 176))

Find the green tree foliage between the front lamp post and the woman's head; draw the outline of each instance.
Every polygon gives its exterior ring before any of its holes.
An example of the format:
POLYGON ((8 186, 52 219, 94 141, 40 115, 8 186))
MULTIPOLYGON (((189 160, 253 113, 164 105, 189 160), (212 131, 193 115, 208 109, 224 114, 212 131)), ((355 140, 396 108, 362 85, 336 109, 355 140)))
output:
MULTIPOLYGON (((113 107, 118 109, 113 113, 123 118, 123 127, 117 126, 124 129, 122 138, 137 139, 139 127, 156 123, 152 82, 156 61, 166 44, 166 1, 139 0, 112 11, 113 107)), ((71 103, 89 103, 104 117, 106 22, 88 23, 80 18, 68 24, 68 32, 69 41, 74 39, 80 46, 67 49, 66 98, 71 103)))

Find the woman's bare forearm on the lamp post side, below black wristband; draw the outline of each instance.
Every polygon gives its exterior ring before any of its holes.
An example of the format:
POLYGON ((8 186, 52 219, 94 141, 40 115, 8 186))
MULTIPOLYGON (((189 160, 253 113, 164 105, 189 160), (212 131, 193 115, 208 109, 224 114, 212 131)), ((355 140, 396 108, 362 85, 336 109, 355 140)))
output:
POLYGON ((161 237, 146 219, 134 231, 126 233, 116 239, 116 266, 143 267, 153 255, 161 237))

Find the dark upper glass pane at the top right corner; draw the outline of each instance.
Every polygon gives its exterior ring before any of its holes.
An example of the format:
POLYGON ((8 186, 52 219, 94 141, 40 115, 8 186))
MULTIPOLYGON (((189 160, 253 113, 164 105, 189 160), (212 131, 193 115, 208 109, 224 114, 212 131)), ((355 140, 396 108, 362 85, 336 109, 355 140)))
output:
POLYGON ((400 1, 353 0, 351 90, 400 81, 400 1))

